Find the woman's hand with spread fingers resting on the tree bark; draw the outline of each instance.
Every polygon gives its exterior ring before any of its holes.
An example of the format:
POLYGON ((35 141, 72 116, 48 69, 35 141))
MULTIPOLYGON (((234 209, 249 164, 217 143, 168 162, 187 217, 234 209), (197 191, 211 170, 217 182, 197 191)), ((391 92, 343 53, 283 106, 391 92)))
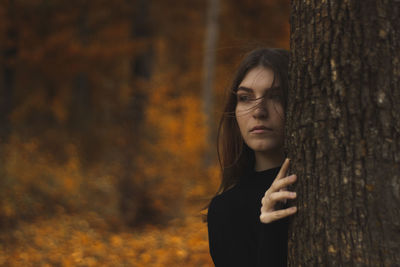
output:
POLYGON ((296 198, 296 192, 290 192, 286 190, 286 187, 293 184, 297 179, 295 174, 285 177, 288 169, 289 159, 286 159, 274 182, 265 192, 265 195, 261 200, 262 206, 260 221, 262 223, 270 223, 285 218, 296 213, 297 211, 297 207, 275 210, 275 205, 278 201, 286 202, 287 199, 296 198))

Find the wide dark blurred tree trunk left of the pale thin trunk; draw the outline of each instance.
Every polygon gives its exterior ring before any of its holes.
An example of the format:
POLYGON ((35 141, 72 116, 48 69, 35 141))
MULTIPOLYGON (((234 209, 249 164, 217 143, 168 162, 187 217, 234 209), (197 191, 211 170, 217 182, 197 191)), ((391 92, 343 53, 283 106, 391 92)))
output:
POLYGON ((148 96, 148 81, 152 76, 152 62, 154 50, 149 41, 153 35, 150 7, 151 1, 132 1, 132 9, 135 10, 132 18, 132 39, 145 40, 149 44, 142 51, 135 54, 131 60, 131 76, 129 83, 133 88, 133 94, 129 110, 124 116, 124 124, 127 125, 126 146, 123 148, 123 172, 118 181, 120 193, 120 211, 125 222, 129 226, 138 226, 142 223, 156 220, 156 215, 150 207, 150 200, 138 182, 140 179, 135 158, 141 153, 143 141, 143 119, 148 96))

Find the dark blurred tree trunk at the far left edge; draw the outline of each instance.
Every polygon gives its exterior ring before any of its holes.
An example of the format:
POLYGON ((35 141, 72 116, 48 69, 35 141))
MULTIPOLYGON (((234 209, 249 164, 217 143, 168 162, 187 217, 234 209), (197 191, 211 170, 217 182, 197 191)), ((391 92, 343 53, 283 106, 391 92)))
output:
POLYGON ((17 59, 18 31, 15 18, 14 0, 8 1, 7 28, 2 44, 3 85, 0 88, 0 142, 5 143, 11 131, 9 115, 12 111, 13 91, 15 85, 15 64, 17 59))

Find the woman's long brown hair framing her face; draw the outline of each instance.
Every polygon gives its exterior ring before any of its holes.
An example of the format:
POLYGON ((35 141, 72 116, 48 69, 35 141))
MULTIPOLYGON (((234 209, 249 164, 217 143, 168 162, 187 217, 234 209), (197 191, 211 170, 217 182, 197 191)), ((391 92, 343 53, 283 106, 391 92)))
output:
POLYGON ((281 88, 281 103, 286 110, 288 91, 289 52, 277 48, 261 48, 248 53, 236 72, 227 94, 224 113, 218 127, 217 151, 222 171, 222 181, 217 194, 233 187, 240 177, 254 168, 255 156, 244 142, 235 117, 237 89, 246 74, 253 68, 265 67, 274 72, 281 88))

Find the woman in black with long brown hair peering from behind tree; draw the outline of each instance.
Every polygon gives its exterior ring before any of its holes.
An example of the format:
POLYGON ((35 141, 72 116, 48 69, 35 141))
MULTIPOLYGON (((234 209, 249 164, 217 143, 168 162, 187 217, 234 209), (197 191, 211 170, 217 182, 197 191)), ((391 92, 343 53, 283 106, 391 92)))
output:
POLYGON ((296 207, 275 205, 296 197, 283 147, 288 61, 282 49, 254 50, 234 78, 219 128, 222 182, 207 214, 216 267, 286 266, 296 207))

